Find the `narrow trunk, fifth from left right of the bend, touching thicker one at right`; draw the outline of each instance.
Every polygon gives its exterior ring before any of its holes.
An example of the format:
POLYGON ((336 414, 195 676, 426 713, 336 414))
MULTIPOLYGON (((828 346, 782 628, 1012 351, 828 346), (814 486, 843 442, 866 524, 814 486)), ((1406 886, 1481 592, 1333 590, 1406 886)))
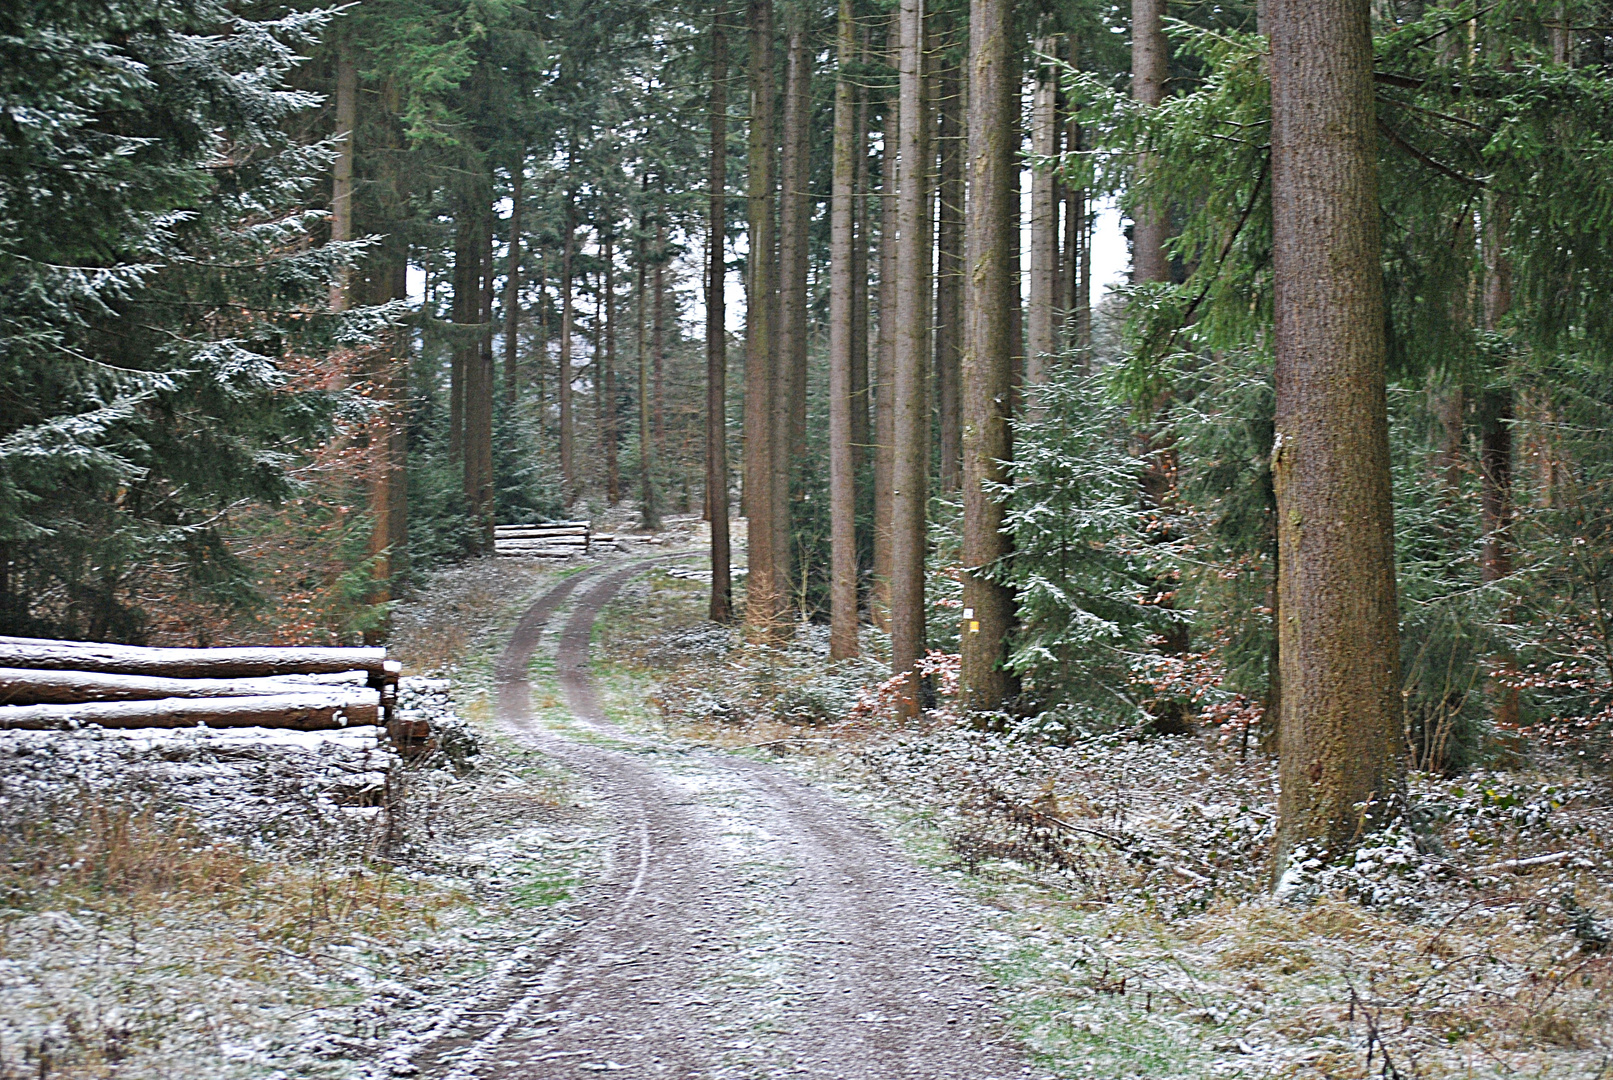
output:
MULTIPOLYGON (((900 27, 890 18, 887 31, 890 66, 900 64, 900 27)), ((879 150, 879 351, 874 358, 874 580, 868 593, 868 616, 881 630, 890 630, 890 484, 895 459, 895 363, 897 363, 897 198, 900 168, 897 143, 902 116, 895 95, 884 102, 884 132, 879 150)))

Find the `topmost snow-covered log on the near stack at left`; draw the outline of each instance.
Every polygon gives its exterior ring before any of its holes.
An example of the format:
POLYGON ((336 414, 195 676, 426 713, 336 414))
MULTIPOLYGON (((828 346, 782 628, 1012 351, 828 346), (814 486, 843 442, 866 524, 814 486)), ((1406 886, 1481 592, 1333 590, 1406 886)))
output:
POLYGON ((142 648, 105 642, 0 637, 0 667, 98 671, 166 679, 265 679, 363 671, 395 682, 398 666, 384 648, 142 648))

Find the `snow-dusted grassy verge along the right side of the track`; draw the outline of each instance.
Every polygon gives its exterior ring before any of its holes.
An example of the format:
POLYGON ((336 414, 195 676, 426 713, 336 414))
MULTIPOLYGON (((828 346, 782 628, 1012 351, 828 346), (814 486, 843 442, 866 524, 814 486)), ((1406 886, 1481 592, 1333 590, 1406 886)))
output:
POLYGON ((1065 1077, 1613 1077, 1613 790, 1542 761, 1411 780, 1413 822, 1271 895, 1273 762, 1215 730, 1052 745, 702 622, 698 582, 606 609, 613 717, 839 788, 974 893, 1011 1024, 1065 1077), (653 711, 636 704, 648 700, 653 711))

